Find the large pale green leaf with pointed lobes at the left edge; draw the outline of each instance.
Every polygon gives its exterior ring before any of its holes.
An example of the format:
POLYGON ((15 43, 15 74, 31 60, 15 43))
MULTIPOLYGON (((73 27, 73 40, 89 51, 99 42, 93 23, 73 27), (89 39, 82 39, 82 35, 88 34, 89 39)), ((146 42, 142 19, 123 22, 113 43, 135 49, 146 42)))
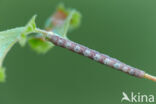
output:
POLYGON ((35 17, 33 17, 25 27, 0 32, 0 81, 3 81, 5 78, 5 71, 4 68, 2 68, 2 64, 8 51, 17 41, 20 41, 21 44, 25 44, 25 42, 23 42, 25 41, 25 36, 35 32, 35 29, 35 17))

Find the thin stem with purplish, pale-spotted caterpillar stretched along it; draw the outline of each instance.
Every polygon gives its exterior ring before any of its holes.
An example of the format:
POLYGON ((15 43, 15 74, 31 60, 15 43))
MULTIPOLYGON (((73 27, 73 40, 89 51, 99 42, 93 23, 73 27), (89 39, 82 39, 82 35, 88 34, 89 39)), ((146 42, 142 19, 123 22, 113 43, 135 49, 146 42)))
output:
POLYGON ((135 76, 135 77, 139 77, 139 78, 146 78, 152 81, 156 82, 156 77, 151 76, 147 73, 145 73, 144 71, 131 67, 123 62, 120 62, 117 59, 111 58, 108 55, 99 53, 95 50, 92 50, 88 47, 85 47, 83 45, 80 45, 78 43, 75 43, 71 40, 65 39, 53 32, 47 32, 44 30, 40 30, 37 29, 38 32, 46 34, 47 38, 49 39, 49 41, 51 41, 53 44, 55 44, 56 46, 60 46, 63 48, 66 48, 68 50, 71 50, 72 52, 81 54, 83 56, 86 56, 96 62, 99 62, 101 64, 105 64, 109 67, 112 67, 114 69, 117 69, 119 71, 125 72, 129 75, 135 76))

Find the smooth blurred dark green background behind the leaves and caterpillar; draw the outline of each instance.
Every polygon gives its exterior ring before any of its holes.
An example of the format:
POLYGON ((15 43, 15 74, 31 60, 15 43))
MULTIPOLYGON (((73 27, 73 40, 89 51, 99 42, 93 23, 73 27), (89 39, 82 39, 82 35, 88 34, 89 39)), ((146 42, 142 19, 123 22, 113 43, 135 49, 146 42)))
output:
MULTIPOLYGON (((83 15, 71 40, 156 75, 154 0, 0 0, 0 30, 23 26, 34 14, 42 28, 60 2, 83 15)), ((4 66, 0 104, 120 104, 123 91, 156 97, 156 83, 60 47, 39 55, 16 44, 4 66)))

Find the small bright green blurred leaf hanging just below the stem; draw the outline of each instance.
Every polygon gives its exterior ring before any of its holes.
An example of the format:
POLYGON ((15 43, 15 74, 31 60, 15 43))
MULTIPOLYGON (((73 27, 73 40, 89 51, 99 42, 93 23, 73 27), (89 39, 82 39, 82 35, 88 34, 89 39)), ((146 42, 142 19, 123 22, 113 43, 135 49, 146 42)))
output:
POLYGON ((42 54, 46 53, 54 46, 51 42, 43 40, 41 38, 29 39, 29 45, 34 51, 42 54))

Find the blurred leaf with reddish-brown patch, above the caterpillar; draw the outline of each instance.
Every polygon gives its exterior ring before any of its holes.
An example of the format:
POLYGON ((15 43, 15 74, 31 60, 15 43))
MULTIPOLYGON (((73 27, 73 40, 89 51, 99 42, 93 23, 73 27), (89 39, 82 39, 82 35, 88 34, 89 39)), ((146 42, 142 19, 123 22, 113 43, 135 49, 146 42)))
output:
POLYGON ((64 5, 59 5, 56 12, 50 17, 45 28, 54 31, 62 37, 66 37, 67 32, 80 25, 81 14, 75 9, 65 9, 64 5))

